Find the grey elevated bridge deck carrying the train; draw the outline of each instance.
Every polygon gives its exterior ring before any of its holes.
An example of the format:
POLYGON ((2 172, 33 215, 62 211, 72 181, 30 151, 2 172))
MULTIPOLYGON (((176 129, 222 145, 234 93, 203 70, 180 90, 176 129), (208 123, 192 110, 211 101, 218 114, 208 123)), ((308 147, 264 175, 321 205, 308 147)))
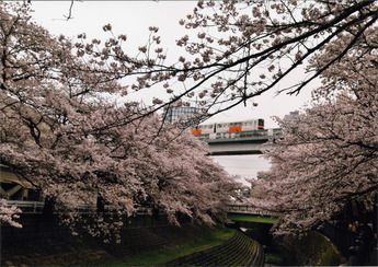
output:
POLYGON ((196 136, 210 147, 210 155, 261 154, 272 146, 268 140, 283 138, 280 128, 264 130, 216 132, 196 136))

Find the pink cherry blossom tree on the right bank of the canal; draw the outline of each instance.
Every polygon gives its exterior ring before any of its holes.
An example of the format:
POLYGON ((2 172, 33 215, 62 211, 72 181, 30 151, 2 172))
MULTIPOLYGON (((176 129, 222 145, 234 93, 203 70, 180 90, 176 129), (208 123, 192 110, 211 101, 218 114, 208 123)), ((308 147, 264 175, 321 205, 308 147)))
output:
MULTIPOLYGON (((378 194, 377 27, 322 72, 313 107, 278 120, 284 139, 266 153, 272 169, 253 182, 254 205, 280 211, 276 232, 319 227, 351 201, 373 211, 378 194)), ((341 38, 311 61, 322 69, 341 38)))

